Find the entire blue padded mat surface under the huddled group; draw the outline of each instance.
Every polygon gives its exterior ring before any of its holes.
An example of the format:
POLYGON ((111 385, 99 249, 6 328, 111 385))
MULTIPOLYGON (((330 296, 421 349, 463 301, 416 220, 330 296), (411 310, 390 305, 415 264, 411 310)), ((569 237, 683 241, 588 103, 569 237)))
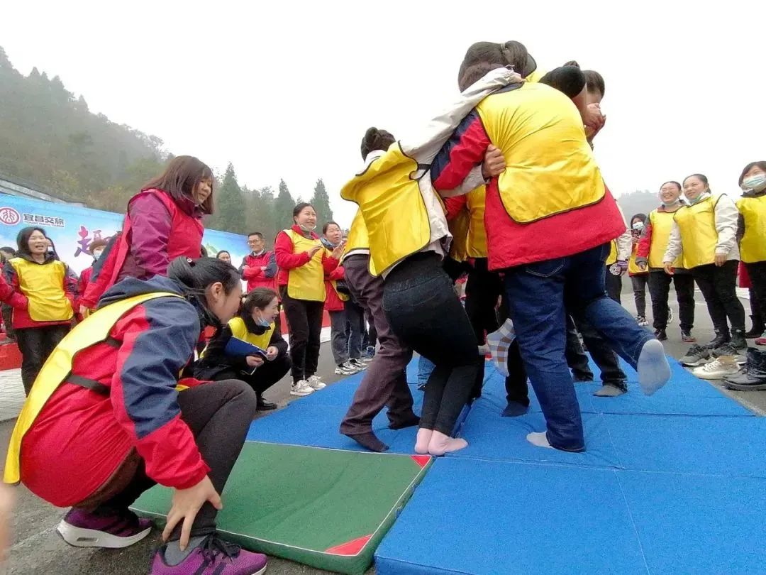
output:
MULTIPOLYGON (((463 410, 469 446, 438 458, 375 555, 378 575, 437 573, 766 573, 766 419, 671 360, 647 397, 576 383, 587 451, 526 442, 545 419, 502 418, 504 378, 486 364, 482 397, 463 410)), ((258 419, 247 439, 358 451, 338 431, 363 374, 258 419)), ((417 358, 408 366, 417 381, 417 358)), ((411 385, 415 411, 423 393, 411 385)), ((374 429, 411 454, 416 428, 374 429)))

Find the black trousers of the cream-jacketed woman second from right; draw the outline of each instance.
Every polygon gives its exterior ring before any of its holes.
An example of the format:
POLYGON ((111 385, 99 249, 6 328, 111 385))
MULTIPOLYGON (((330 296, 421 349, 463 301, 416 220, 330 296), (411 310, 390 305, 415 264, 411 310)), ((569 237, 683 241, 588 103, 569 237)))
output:
POLYGON ((739 262, 727 261, 720 268, 715 264, 692 269, 694 281, 705 297, 708 313, 716 333, 728 335, 728 319, 732 330, 745 331, 745 308, 737 297, 737 268, 739 262))

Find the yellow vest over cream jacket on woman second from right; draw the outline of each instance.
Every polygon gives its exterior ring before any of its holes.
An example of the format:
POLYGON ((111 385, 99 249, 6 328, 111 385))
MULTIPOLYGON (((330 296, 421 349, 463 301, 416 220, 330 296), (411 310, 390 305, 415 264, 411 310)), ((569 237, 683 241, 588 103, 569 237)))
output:
POLYGON ((715 261, 718 230, 715 229, 715 205, 721 195, 710 195, 694 205, 685 205, 673 217, 681 230, 683 267, 687 270, 715 261))

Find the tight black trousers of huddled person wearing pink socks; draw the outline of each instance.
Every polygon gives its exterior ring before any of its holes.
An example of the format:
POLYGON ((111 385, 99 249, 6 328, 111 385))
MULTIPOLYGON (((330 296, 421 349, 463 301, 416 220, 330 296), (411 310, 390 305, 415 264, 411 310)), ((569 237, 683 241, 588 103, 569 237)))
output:
POLYGON ((383 310, 394 334, 434 363, 421 428, 450 435, 476 378, 478 343, 452 281, 434 252, 401 262, 383 286, 383 310))

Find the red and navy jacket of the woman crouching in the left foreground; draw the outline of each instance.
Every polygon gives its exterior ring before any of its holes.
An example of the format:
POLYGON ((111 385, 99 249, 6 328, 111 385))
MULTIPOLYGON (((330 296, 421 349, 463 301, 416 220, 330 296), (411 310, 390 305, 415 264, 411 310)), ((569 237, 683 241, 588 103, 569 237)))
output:
MULTIPOLYGON (((182 293, 168 278, 129 279, 102 304, 155 291, 182 293)), ((175 390, 199 334, 198 311, 181 298, 146 301, 123 315, 110 332, 116 344, 86 348, 72 365, 74 375, 97 380, 109 395, 62 384, 21 442, 21 481, 68 507, 103 486, 133 450, 162 485, 183 489, 201 481, 210 468, 181 419, 175 390)))

